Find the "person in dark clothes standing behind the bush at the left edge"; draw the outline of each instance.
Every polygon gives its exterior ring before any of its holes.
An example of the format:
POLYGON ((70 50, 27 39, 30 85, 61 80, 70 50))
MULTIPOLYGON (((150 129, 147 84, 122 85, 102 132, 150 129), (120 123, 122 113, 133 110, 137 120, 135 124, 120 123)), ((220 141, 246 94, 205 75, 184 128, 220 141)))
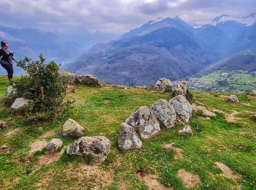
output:
POLYGON ((0 64, 7 70, 8 79, 10 83, 12 83, 13 76, 13 66, 12 66, 12 56, 14 55, 14 51, 8 52, 9 45, 7 42, 1 42, 1 50, 0 50, 0 64))

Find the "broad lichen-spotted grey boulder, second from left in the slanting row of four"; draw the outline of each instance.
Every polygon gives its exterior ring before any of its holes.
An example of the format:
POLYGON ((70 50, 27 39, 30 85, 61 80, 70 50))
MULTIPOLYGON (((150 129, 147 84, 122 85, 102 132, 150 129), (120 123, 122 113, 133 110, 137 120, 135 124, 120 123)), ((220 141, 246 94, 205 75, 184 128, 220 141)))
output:
POLYGON ((142 106, 132 113, 125 123, 132 126, 143 139, 149 139, 161 130, 156 116, 146 106, 142 106))

